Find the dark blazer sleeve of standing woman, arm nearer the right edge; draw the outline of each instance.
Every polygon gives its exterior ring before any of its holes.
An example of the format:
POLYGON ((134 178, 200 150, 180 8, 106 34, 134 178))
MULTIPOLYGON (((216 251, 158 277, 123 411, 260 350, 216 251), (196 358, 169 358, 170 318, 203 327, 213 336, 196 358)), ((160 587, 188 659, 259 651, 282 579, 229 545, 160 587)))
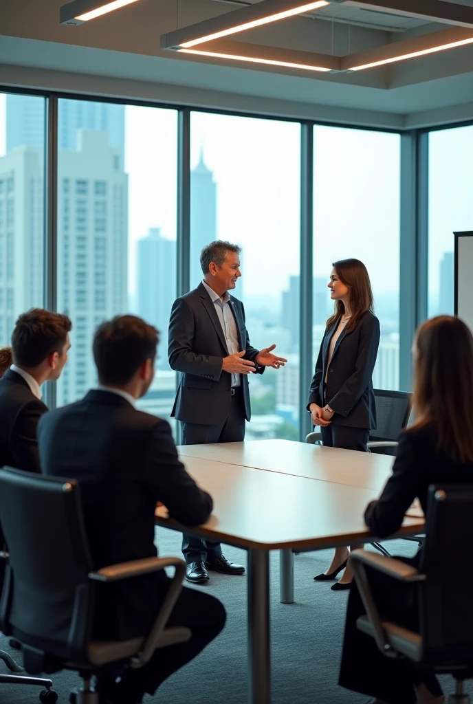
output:
POLYGON ((347 417, 355 403, 370 385, 374 365, 378 356, 379 320, 374 316, 362 321, 360 329, 360 344, 355 362, 355 371, 348 377, 340 391, 327 403, 335 413, 347 417))

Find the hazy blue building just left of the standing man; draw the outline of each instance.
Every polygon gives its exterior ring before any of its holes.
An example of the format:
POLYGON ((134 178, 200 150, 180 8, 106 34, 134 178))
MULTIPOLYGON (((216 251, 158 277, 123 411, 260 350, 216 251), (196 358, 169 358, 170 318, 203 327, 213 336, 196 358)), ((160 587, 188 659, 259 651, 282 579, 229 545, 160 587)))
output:
POLYGON ((152 227, 137 242, 138 315, 160 331, 158 369, 169 369, 168 325, 176 297, 176 243, 152 227))

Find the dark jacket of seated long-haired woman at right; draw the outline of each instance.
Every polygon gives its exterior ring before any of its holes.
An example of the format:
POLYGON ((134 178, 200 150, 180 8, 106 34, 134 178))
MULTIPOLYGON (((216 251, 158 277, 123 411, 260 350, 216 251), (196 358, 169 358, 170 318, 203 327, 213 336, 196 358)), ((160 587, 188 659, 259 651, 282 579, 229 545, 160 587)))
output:
POLYGON ((384 538, 395 533, 415 498, 427 515, 431 484, 473 483, 473 463, 454 462, 436 447, 436 431, 431 425, 401 432, 393 473, 379 499, 368 504, 365 512, 365 522, 374 535, 384 538))

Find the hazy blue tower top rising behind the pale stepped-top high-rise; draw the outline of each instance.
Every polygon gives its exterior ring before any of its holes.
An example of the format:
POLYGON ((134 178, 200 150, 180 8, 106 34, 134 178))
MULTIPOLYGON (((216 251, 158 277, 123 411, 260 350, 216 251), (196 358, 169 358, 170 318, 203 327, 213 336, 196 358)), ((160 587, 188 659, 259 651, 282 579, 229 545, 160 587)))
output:
MULTIPOLYGON (((27 95, 6 96, 6 151, 15 146, 44 149, 45 101, 27 95)), ((125 106, 82 100, 58 101, 58 149, 75 151, 77 130, 107 132, 108 144, 125 155, 125 106)))

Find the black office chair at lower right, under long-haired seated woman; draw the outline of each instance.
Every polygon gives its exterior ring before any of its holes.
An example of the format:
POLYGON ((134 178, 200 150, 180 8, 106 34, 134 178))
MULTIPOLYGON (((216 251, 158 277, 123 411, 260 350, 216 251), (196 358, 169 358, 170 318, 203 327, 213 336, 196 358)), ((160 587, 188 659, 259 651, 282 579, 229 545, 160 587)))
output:
POLYGON ((351 553, 350 562, 366 609, 366 616, 360 617, 357 625, 375 639, 386 657, 407 658, 439 674, 452 674, 456 687, 448 704, 469 704, 464 681, 473 677, 473 486, 431 486, 428 502, 419 571, 377 553, 351 553), (366 566, 399 582, 418 582, 418 633, 379 614, 366 566))

